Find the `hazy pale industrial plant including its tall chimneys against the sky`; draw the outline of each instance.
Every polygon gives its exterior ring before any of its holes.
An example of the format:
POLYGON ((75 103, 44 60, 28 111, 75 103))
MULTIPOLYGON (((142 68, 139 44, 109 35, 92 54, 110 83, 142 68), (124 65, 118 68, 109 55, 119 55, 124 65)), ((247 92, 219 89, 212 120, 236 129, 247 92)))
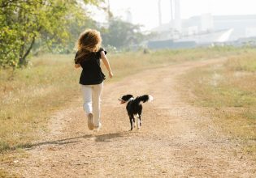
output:
POLYGON ((256 44, 256 15, 198 15, 180 18, 180 0, 170 0, 170 23, 162 23, 161 0, 158 0, 158 33, 148 42, 152 49, 193 48, 202 45, 239 44, 254 40, 256 44))

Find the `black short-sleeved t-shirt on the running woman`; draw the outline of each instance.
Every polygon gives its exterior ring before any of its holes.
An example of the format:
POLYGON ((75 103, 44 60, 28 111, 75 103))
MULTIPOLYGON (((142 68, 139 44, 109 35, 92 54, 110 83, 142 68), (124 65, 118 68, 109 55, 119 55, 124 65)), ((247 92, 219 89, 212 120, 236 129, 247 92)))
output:
MULTIPOLYGON (((83 68, 80 74, 80 81, 79 83, 82 85, 97 85, 105 80, 105 74, 102 73, 102 69, 100 66, 100 59, 101 59, 101 52, 106 51, 103 48, 100 48, 98 52, 90 53, 86 59, 83 59, 79 62, 80 66, 83 68)), ((77 56, 78 52, 76 52, 77 56)), ((76 57, 75 57, 76 58, 76 57)))

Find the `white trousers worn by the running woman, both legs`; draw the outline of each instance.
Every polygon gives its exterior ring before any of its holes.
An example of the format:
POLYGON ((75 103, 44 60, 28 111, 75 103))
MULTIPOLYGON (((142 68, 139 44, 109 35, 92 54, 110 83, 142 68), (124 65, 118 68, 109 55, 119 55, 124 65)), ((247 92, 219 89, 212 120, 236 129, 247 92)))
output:
POLYGON ((103 83, 98 85, 81 85, 84 100, 83 108, 87 116, 89 113, 93 113, 94 126, 98 126, 100 123, 102 88, 103 83))

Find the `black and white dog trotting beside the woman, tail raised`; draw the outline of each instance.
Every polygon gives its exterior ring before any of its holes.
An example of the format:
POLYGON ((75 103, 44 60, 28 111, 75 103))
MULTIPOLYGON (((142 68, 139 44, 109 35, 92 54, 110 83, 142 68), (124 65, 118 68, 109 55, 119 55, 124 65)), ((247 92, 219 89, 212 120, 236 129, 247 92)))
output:
POLYGON ((141 95, 137 96, 136 99, 133 98, 133 95, 123 95, 122 98, 119 99, 121 104, 127 103, 126 110, 128 112, 128 117, 130 118, 131 130, 136 127, 135 117, 138 117, 138 127, 140 128, 141 123, 141 113, 142 113, 142 105, 141 103, 145 103, 147 101, 152 101, 152 95, 141 95), (133 121, 133 123, 132 123, 133 121))

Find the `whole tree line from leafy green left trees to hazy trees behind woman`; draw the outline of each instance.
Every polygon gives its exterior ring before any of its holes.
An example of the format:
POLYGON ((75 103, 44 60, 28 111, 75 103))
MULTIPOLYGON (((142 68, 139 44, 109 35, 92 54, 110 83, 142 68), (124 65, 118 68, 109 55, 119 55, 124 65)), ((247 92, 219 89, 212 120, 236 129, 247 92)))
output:
POLYGON ((139 25, 113 16, 105 26, 95 22, 82 4, 104 10, 104 0, 0 0, 0 67, 26 66, 41 51, 72 53, 85 28, 97 28, 103 45, 117 49, 145 39, 139 25))

